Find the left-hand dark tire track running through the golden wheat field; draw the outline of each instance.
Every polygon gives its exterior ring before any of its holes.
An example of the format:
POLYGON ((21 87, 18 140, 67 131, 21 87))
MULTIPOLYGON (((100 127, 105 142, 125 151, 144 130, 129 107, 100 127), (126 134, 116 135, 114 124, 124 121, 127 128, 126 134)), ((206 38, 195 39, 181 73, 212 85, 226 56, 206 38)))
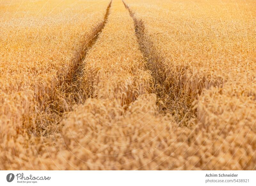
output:
MULTIPOLYGON (((34 134, 40 133, 40 135, 48 135, 47 133, 55 132, 57 125, 63 117, 63 113, 73 110, 74 104, 83 103, 88 97, 86 91, 82 87, 82 78, 84 75, 84 58, 87 52, 94 43, 97 41, 99 34, 104 28, 111 7, 112 1, 108 4, 106 13, 102 22, 97 24, 92 30, 93 32, 87 36, 79 48, 74 57, 73 66, 70 67, 70 71, 65 75, 65 80, 60 82, 59 86, 53 90, 52 96, 49 102, 43 105, 42 112, 37 115, 36 131, 33 129, 34 134), (48 112, 46 112, 49 110, 48 112), (39 130, 39 131, 38 131, 39 130)), ((60 75, 61 77, 61 75, 60 75)), ((30 133, 32 131, 30 130, 30 133)))

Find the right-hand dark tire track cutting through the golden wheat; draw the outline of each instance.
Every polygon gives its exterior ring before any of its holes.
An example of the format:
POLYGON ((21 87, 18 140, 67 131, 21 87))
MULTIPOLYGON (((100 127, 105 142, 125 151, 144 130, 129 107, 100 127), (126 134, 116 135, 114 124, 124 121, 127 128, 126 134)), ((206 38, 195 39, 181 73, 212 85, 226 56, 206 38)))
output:
MULTIPOLYGON (((123 1, 124 3, 124 1, 123 1)), ((146 61, 145 69, 151 71, 154 80, 154 93, 156 93, 160 112, 171 112, 176 118, 176 122, 181 123, 185 117, 193 115, 191 111, 191 98, 184 97, 186 90, 187 66, 175 66, 175 73, 164 64, 165 58, 157 53, 154 43, 147 38, 145 26, 142 20, 137 19, 127 4, 126 9, 134 21, 135 33, 139 43, 140 51, 146 61), (172 74, 172 75, 170 75, 172 74), (182 100, 182 101, 180 101, 182 100), (180 113, 181 118, 180 118, 180 113)), ((190 92, 190 89, 189 91, 190 92)))

